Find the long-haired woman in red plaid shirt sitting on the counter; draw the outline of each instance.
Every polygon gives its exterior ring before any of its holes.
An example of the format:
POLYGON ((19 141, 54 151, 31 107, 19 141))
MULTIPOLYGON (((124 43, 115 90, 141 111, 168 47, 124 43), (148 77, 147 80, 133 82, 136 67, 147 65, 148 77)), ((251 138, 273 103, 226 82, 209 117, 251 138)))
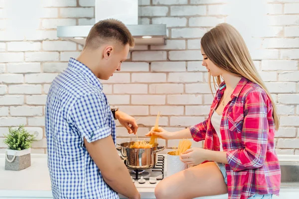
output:
POLYGON ((202 65, 219 87, 209 116, 178 132, 160 128, 147 136, 204 140, 204 147, 182 154, 181 161, 191 167, 162 180, 155 196, 191 199, 228 193, 229 199, 271 199, 279 194, 281 181, 274 143, 276 105, 233 26, 222 23, 207 32, 201 52, 202 65))

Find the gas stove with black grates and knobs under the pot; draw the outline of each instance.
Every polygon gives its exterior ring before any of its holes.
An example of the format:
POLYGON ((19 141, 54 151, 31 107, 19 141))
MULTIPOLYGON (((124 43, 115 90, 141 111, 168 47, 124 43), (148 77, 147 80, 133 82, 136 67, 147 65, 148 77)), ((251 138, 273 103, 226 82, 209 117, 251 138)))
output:
POLYGON ((157 164, 152 169, 142 171, 129 169, 136 188, 155 188, 156 185, 165 178, 165 156, 157 155, 157 158, 157 164))

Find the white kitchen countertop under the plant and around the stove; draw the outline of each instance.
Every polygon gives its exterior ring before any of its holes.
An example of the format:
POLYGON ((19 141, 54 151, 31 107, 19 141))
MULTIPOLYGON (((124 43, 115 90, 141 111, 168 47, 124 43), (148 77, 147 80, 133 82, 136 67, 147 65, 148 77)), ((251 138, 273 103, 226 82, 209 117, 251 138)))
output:
MULTIPOLYGON (((31 154, 31 166, 21 171, 4 170, 4 154, 0 154, 0 199, 52 199, 51 182, 46 154, 31 154)), ((294 160, 293 156, 282 159, 294 160)), ((154 199, 153 188, 139 188, 142 199, 154 199)), ((120 195, 121 198, 124 198, 120 195)), ((273 199, 299 198, 299 188, 282 188, 280 197, 273 199)), ((199 199, 199 198, 198 198, 199 199)), ((227 199, 227 195, 201 197, 200 199, 227 199)))

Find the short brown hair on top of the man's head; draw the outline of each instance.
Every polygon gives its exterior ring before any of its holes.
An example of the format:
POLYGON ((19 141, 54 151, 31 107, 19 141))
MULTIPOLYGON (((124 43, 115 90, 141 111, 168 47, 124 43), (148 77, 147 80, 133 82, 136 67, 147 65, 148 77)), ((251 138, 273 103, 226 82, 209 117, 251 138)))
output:
POLYGON ((122 45, 134 47, 134 37, 127 26, 117 19, 100 20, 90 29, 84 48, 98 48, 109 41, 117 41, 122 45))

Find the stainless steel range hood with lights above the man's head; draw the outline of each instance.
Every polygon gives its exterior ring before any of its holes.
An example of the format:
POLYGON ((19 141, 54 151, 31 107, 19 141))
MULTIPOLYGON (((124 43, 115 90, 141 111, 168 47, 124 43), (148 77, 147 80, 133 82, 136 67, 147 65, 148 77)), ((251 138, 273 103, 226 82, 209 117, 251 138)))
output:
MULTIPOLYGON (((166 24, 138 24, 138 0, 95 0, 95 23, 115 18, 126 24, 136 45, 166 44, 166 24)), ((85 44, 92 25, 57 26, 57 37, 85 44)))

